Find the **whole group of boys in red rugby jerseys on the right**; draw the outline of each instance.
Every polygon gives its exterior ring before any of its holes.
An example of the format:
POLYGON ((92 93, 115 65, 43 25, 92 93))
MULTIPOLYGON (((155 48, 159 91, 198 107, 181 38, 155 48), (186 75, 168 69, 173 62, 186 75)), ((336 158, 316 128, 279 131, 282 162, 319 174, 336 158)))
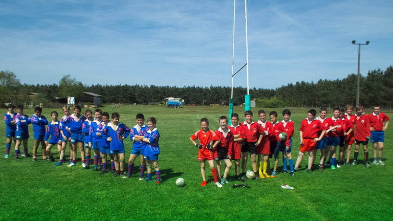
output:
POLYGON ((198 147, 198 160, 201 161, 201 186, 207 185, 205 162, 211 169, 214 184, 222 187, 228 184, 228 173, 235 164, 236 180, 245 181, 248 158, 251 160, 252 171, 255 179, 274 178, 277 175, 278 155, 282 153, 283 169, 281 173, 288 173, 287 159, 290 164, 289 175, 295 175, 305 153, 308 154, 307 172, 312 172, 315 162, 316 150, 321 151, 318 170, 323 172, 324 166, 331 169, 340 168, 341 165, 358 164, 359 149, 362 146, 364 152, 364 165, 370 167, 368 162, 367 144, 373 143, 373 165, 385 165, 382 161, 384 148, 384 131, 388 127, 389 117, 381 113, 379 105, 374 106, 373 113, 366 115, 363 106, 355 108, 347 105, 346 109, 333 108, 333 116, 326 117, 327 109, 321 108, 316 117, 315 109, 308 111, 307 118, 303 119, 299 128, 300 148, 296 164, 292 160, 292 136, 294 135, 294 123, 291 121, 291 112, 285 109, 282 112, 283 119, 277 121, 277 113, 270 112, 271 121, 266 120, 263 110, 258 112, 258 121, 253 121, 253 113, 246 111, 245 121, 238 123, 237 114, 232 114, 231 124, 228 119, 220 117, 220 128, 216 131, 209 129, 209 120, 201 119, 201 129, 191 137, 191 142, 198 147), (285 136, 282 136, 285 133, 285 136), (196 140, 199 143, 195 142, 196 140), (355 144, 354 159, 350 162, 351 147, 355 144), (336 148, 339 147, 338 157, 336 148), (346 156, 345 156, 346 155, 346 156), (273 170, 270 169, 269 159, 274 157, 273 170), (336 157, 338 160, 336 161, 336 157), (221 161, 224 160, 226 167, 221 175, 221 161), (240 161, 242 160, 242 173, 240 161), (216 162, 216 168, 214 167, 216 162))

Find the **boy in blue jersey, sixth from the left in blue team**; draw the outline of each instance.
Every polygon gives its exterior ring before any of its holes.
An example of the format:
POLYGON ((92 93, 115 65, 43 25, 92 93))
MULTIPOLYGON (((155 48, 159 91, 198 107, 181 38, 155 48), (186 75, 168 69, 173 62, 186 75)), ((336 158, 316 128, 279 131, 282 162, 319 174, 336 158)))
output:
POLYGON ((74 114, 70 115, 65 119, 64 123, 69 123, 69 126, 65 126, 71 134, 71 148, 72 148, 72 161, 70 162, 68 167, 75 166, 76 164, 76 151, 79 147, 80 150, 80 158, 82 161, 82 167, 85 167, 86 164, 84 163, 84 137, 82 133, 82 129, 84 128, 83 122, 86 120, 86 117, 80 115, 82 108, 79 105, 74 107, 74 114))

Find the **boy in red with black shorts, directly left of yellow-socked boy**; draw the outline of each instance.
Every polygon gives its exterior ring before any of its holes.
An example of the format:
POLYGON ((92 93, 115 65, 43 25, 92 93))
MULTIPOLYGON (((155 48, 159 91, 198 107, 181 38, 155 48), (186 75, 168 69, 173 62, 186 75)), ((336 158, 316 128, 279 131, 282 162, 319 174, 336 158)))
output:
POLYGON ((250 152, 252 171, 257 174, 256 170, 256 147, 260 144, 263 135, 265 134, 264 129, 255 121, 252 121, 252 111, 246 111, 244 113, 246 120, 241 123, 242 132, 241 138, 245 141, 242 146, 242 180, 246 180, 246 165, 248 159, 248 153, 250 152))

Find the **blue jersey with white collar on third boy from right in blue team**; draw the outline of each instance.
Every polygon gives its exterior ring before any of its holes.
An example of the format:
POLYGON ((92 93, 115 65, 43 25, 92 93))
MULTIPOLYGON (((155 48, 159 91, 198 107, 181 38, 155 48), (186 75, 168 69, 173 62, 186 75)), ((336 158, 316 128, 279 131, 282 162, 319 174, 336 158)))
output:
POLYGON ((110 142, 111 150, 122 150, 124 149, 123 139, 128 137, 130 129, 121 122, 118 125, 111 122, 104 126, 102 132, 102 139, 107 140, 110 137, 112 138, 110 142))

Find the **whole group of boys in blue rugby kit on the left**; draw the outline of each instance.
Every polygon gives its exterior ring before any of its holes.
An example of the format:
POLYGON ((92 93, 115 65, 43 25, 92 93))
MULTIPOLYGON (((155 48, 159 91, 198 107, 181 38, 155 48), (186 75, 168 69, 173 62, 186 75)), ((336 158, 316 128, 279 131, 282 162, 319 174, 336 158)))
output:
MULTIPOLYGON (((45 141, 43 143, 42 149, 42 158, 46 159, 46 155, 48 151, 49 158, 48 160, 55 161, 53 158, 53 154, 49 149, 45 148, 45 145, 53 146, 58 145, 58 149, 60 150, 60 145, 62 142, 70 141, 72 144, 76 143, 84 143, 85 148, 92 148, 94 151, 94 165, 95 170, 99 171, 101 166, 101 173, 107 173, 106 170, 106 156, 110 155, 112 172, 115 176, 122 176, 122 178, 130 178, 132 176, 132 170, 134 167, 134 162, 129 162, 127 166, 127 172, 124 173, 123 164, 124 164, 124 142, 123 140, 130 137, 131 141, 134 141, 132 151, 130 152, 130 158, 133 155, 142 156, 144 161, 141 161, 141 171, 139 173, 140 180, 151 181, 151 172, 148 168, 147 177, 144 179, 144 171, 145 171, 145 160, 148 162, 152 162, 156 167, 156 176, 157 182, 156 184, 161 184, 161 173, 158 168, 158 155, 160 154, 159 147, 159 137, 160 134, 157 130, 156 119, 153 119, 148 122, 150 126, 146 126, 143 121, 144 117, 142 114, 137 115, 142 122, 142 125, 137 124, 131 129, 127 127, 125 124, 119 122, 119 114, 112 114, 112 121, 108 120, 108 113, 102 113, 100 109, 95 110, 95 114, 100 116, 99 118, 86 118, 83 115, 76 116, 68 115, 61 118, 60 121, 57 120, 57 112, 52 112, 51 117, 52 121, 48 122, 45 116, 41 115, 42 108, 35 108, 35 115, 29 116, 23 114, 23 106, 18 106, 18 113, 14 113, 15 106, 9 105, 9 111, 4 115, 4 121, 6 123, 6 158, 9 157, 9 152, 12 144, 12 140, 15 142, 15 158, 18 159, 20 155, 19 149, 16 147, 19 141, 23 141, 26 146, 24 146, 25 156, 30 157, 27 149, 27 139, 29 139, 29 130, 28 125, 33 124, 33 134, 35 141, 45 141), (106 121, 102 120, 101 116, 106 117, 106 121), (46 125, 48 125, 46 127, 46 125), (16 140, 16 141, 15 141, 16 140), (46 151, 45 151, 46 150, 46 151), (100 156, 97 156, 97 152, 101 154, 101 158, 105 157, 105 160, 101 159, 100 156), (102 164, 99 165, 102 160, 102 164)), ((65 108, 65 107, 64 107, 65 108)), ((64 109, 63 108, 63 109, 64 109)), ((69 109, 69 107, 67 107, 69 109)), ((80 106, 75 106, 75 109, 81 110, 80 106)), ((74 112, 75 112, 74 109, 74 112)), ((90 110, 86 110, 86 113, 90 112, 90 116, 92 112, 90 110)), ((85 114, 86 114, 85 113, 85 114)), ((87 115, 86 115, 87 116, 87 115)), ((37 144, 38 146, 38 144, 37 144)), ((64 149, 61 149, 64 151, 64 149)), ((76 152, 76 150, 74 150, 76 152)), ((34 152, 34 150, 33 150, 34 152)), ((36 152, 36 151, 35 151, 36 152)), ((86 158, 82 159, 82 166, 85 169, 90 168, 90 151, 89 154, 86 154, 86 158)), ((59 152, 60 154, 60 152, 59 152)), ((75 157, 72 158, 73 154, 70 154, 70 164, 69 166, 75 165, 75 157)), ((75 153, 76 155, 76 153, 75 153)), ((82 154, 81 154, 82 155, 82 154)), ((81 156, 82 158, 82 156, 81 156)), ((59 162, 55 164, 55 166, 62 165, 62 162, 65 158, 60 158, 59 162)), ((33 161, 36 161, 36 156, 33 156, 33 161)), ((148 164, 150 166, 150 164, 148 164)), ((150 168, 151 169, 151 168, 150 168)))

